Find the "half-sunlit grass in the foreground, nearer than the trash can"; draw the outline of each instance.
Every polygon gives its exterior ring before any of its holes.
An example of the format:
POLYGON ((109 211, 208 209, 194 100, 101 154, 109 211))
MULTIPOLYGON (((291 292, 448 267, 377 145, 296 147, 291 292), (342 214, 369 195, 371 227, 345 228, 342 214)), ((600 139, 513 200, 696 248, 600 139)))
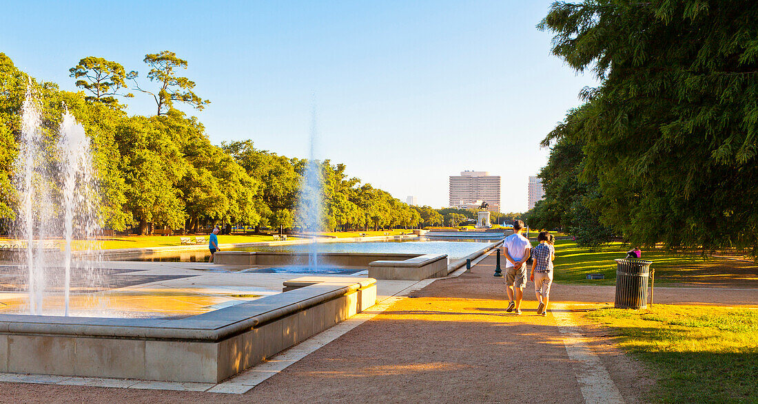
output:
POLYGON ((650 365, 656 402, 758 402, 758 310, 656 304, 600 309, 587 319, 619 331, 619 345, 650 365))

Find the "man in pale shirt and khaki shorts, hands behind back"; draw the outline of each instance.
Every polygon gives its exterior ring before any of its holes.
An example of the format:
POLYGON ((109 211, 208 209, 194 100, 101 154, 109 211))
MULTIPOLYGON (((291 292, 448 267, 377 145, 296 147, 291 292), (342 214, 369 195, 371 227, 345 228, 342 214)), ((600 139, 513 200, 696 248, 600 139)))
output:
POLYGON ((506 312, 512 312, 515 309, 516 314, 521 314, 521 301, 524 297, 524 287, 526 286, 526 260, 531 254, 531 243, 521 233, 524 229, 524 222, 521 220, 513 221, 513 234, 506 237, 503 241, 504 255, 506 256, 506 286, 508 288, 508 309, 506 312), (515 301, 514 301, 515 300, 515 301))

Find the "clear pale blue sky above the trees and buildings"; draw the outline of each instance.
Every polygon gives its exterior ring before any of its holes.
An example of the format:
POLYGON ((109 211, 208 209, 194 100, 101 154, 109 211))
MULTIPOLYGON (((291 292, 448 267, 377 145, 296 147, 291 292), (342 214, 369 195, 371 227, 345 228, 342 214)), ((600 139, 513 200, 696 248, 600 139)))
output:
MULTIPOLYGON (((181 109, 216 144, 250 138, 289 157, 345 163, 400 200, 447 204, 447 177, 503 176, 504 211, 524 211, 540 140, 595 85, 550 55, 534 26, 548 1, 5 2, 0 51, 21 70, 74 90, 68 69, 99 56, 138 70, 171 50, 205 110, 181 109)), ((154 113, 152 98, 128 99, 154 113)))

